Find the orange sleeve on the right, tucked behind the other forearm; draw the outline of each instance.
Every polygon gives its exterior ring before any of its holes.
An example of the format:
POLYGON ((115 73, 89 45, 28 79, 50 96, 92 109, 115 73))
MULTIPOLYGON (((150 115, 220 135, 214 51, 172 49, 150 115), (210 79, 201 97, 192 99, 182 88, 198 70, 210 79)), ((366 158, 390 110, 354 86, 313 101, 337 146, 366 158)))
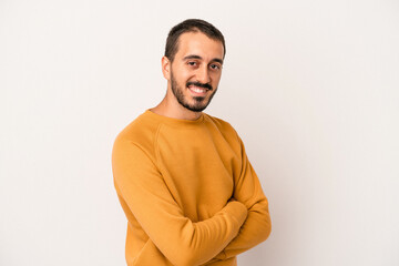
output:
POLYGON ((233 195, 248 208, 248 215, 238 235, 215 257, 216 260, 236 256, 264 242, 272 232, 267 198, 247 158, 244 144, 239 137, 238 140, 242 146, 243 164, 239 177, 235 181, 233 195))

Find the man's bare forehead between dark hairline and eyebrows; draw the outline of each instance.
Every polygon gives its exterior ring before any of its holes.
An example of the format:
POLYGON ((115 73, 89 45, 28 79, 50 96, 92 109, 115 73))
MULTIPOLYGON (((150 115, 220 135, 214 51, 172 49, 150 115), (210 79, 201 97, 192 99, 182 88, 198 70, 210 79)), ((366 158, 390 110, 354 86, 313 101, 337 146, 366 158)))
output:
POLYGON ((223 59, 223 44, 202 32, 186 32, 178 38, 176 58, 200 55, 204 59, 223 59))

